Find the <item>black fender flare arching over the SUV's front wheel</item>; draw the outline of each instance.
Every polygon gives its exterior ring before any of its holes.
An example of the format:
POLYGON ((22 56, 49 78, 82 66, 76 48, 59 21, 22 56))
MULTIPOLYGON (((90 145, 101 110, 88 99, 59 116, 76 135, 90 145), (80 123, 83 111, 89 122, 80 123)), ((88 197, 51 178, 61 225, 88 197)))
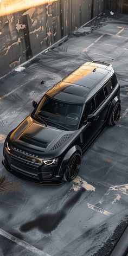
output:
POLYGON ((67 166, 67 163, 69 161, 69 159, 71 158, 71 156, 73 155, 73 153, 75 152, 79 152, 80 156, 82 156, 82 151, 79 145, 75 145, 73 146, 71 149, 68 150, 68 152, 66 153, 66 155, 63 157, 60 169, 59 169, 59 175, 63 175, 67 166))

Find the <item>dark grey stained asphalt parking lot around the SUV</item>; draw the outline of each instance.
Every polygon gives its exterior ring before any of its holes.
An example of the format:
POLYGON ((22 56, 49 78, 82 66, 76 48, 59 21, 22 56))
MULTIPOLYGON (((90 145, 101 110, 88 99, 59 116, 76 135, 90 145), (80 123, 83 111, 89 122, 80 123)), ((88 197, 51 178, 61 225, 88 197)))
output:
POLYGON ((74 68, 94 59, 110 62, 121 86, 119 123, 106 127, 84 153, 74 182, 25 182, 0 163, 1 256, 107 256, 126 225, 128 15, 103 21, 91 34, 68 37, 0 80, 0 162, 5 137, 33 110, 33 99, 74 68))

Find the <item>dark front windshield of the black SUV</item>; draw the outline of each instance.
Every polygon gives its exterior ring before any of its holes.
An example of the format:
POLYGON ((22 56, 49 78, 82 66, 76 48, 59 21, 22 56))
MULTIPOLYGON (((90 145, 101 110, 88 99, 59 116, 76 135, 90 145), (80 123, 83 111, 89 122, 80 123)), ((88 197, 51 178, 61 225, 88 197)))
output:
POLYGON ((34 117, 42 118, 48 125, 62 130, 76 130, 80 120, 82 105, 70 104, 53 98, 43 97, 34 117))

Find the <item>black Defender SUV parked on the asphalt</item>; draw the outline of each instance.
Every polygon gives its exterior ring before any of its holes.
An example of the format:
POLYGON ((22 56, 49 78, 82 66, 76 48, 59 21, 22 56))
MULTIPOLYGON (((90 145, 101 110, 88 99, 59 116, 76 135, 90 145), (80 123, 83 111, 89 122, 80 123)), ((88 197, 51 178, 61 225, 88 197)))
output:
POLYGON ((5 168, 28 181, 60 184, 78 175, 82 153, 120 117, 112 65, 92 61, 52 87, 4 143, 5 168))

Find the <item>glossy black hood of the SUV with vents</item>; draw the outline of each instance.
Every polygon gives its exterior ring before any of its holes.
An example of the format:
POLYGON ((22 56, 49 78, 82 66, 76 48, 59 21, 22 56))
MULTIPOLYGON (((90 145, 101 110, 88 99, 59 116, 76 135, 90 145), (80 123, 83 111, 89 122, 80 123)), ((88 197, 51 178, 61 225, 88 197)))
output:
POLYGON ((29 117, 11 135, 12 148, 47 152, 69 131, 38 123, 29 117))

